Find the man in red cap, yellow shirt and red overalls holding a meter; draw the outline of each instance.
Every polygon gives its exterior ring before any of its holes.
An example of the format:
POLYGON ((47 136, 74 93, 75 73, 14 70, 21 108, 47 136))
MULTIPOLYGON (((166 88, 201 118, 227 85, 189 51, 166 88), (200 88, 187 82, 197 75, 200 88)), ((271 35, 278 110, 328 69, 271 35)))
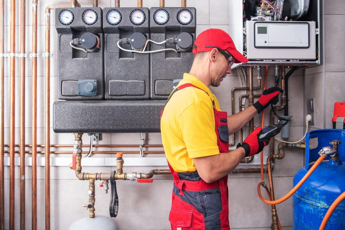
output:
POLYGON ((241 129, 272 101, 281 89, 265 90, 259 100, 227 117, 220 111, 209 86, 217 87, 233 63, 247 62, 230 36, 220 29, 199 34, 193 45, 189 73, 170 94, 161 114, 161 135, 174 177, 171 229, 226 230, 228 220, 227 176, 239 162, 262 151, 269 142, 255 129, 237 149, 229 152, 229 135, 241 129))

